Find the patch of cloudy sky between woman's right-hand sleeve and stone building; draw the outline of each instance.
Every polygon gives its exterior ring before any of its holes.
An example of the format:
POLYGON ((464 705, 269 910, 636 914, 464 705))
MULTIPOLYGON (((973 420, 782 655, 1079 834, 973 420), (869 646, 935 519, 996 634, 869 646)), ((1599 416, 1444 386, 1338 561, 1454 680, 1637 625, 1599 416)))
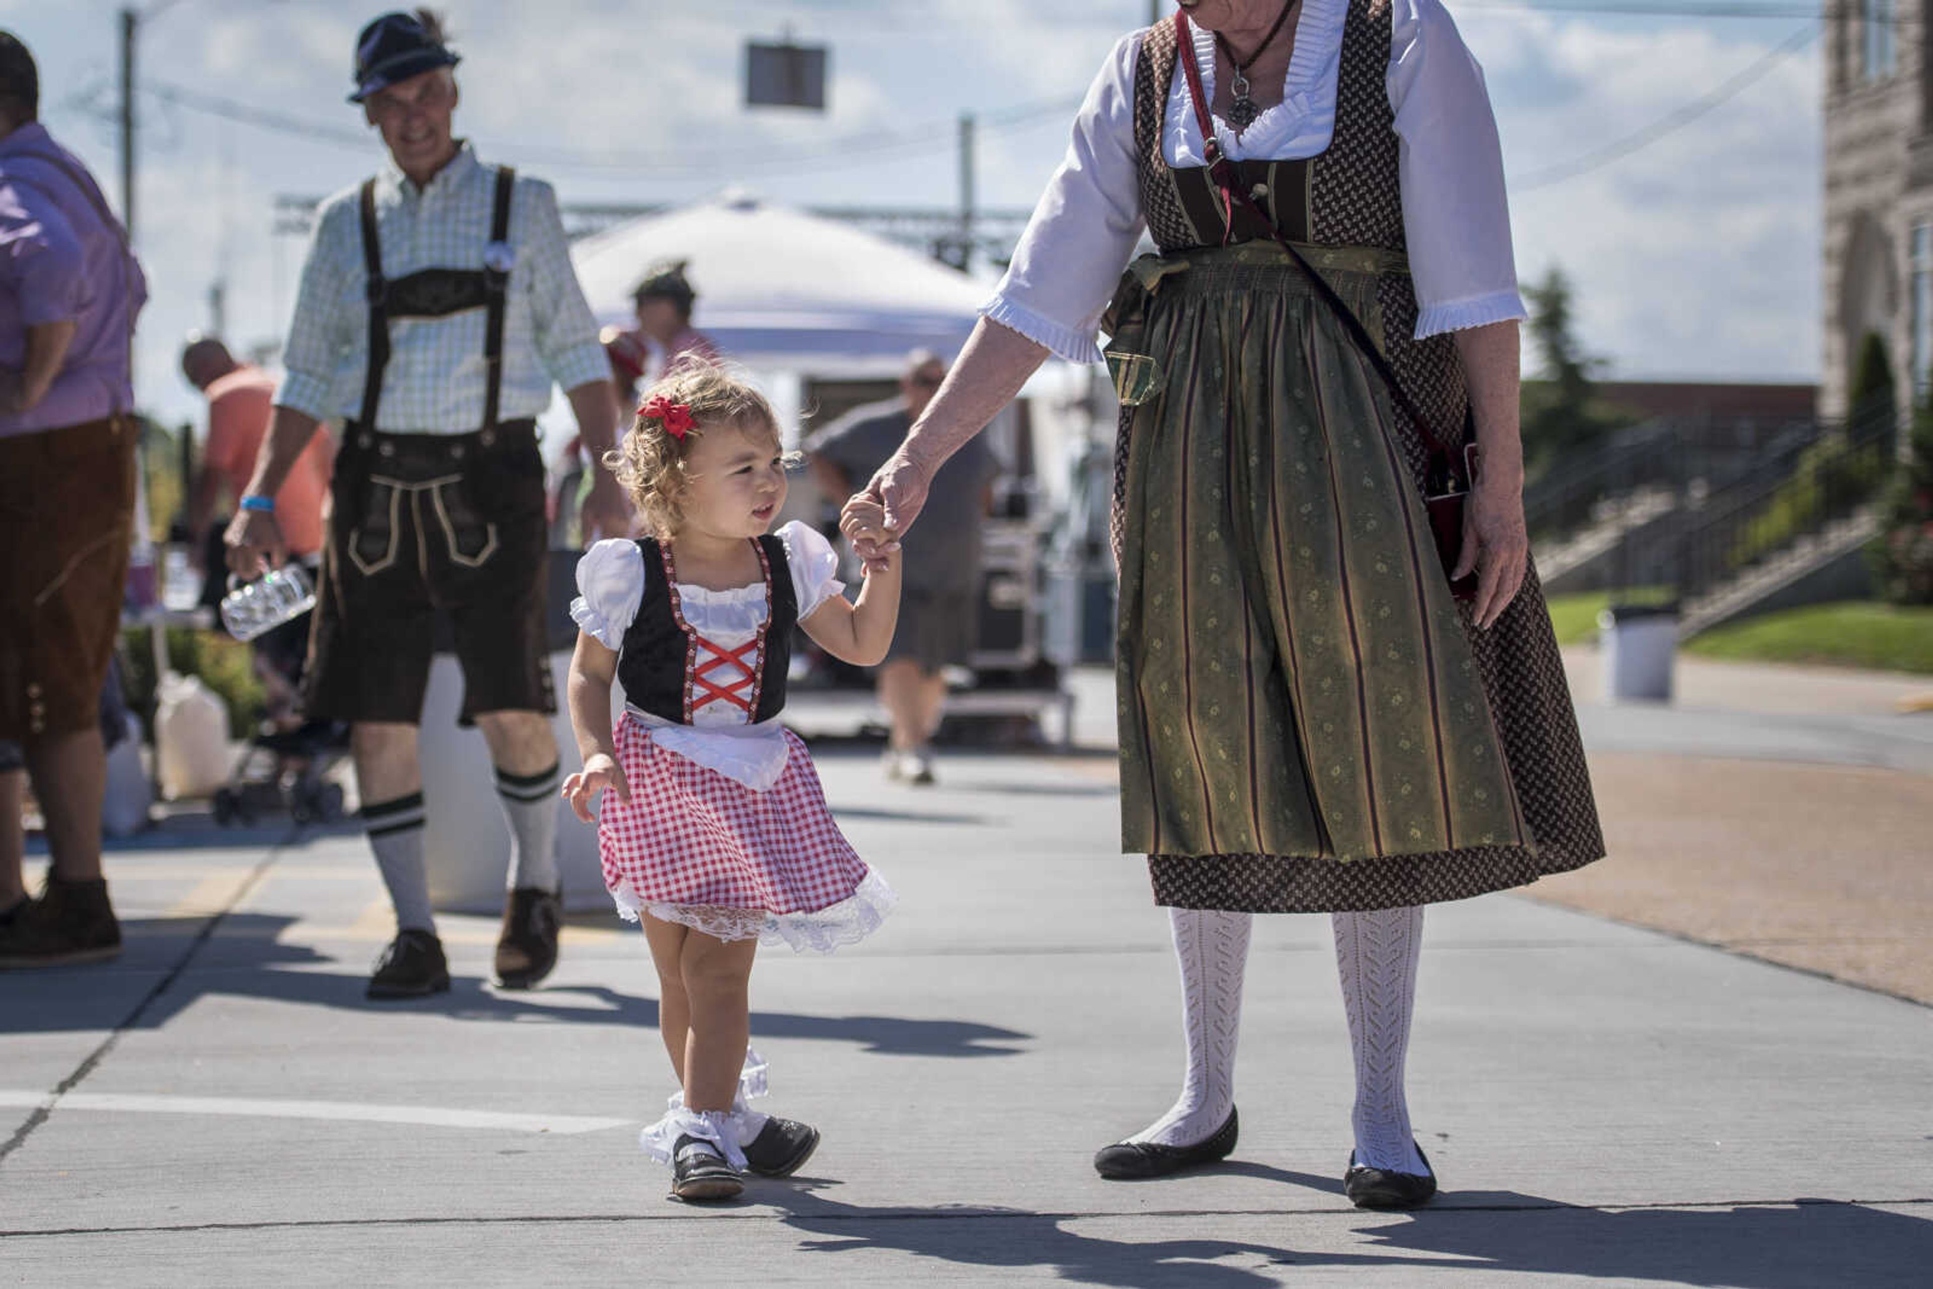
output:
MULTIPOLYGON (((1465 21, 1514 174, 1589 157, 1767 54, 1682 23, 1465 21)), ((1525 280, 1562 265, 1585 344, 1626 377, 1815 379, 1821 68, 1788 56, 1730 102, 1575 180, 1514 195, 1525 280)))

